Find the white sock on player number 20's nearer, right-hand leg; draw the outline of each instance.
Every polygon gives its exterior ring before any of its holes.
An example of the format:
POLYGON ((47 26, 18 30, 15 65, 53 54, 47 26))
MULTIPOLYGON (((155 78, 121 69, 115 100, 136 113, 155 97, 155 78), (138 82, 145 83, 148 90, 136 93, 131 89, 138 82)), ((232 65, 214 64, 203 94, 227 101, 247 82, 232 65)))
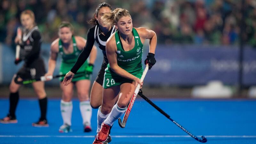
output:
POLYGON ((114 122, 125 113, 126 109, 127 108, 119 108, 117 104, 115 104, 104 123, 112 126, 114 122))

